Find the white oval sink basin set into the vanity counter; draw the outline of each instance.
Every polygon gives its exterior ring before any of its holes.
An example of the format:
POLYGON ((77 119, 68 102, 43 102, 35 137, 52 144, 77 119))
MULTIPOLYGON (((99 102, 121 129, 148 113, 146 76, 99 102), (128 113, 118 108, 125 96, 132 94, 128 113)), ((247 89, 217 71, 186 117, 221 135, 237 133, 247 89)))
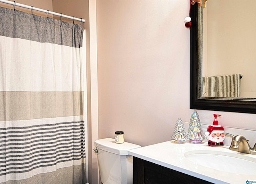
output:
POLYGON ((184 156, 194 164, 224 172, 252 176, 256 173, 256 157, 245 154, 198 150, 188 151, 184 156))

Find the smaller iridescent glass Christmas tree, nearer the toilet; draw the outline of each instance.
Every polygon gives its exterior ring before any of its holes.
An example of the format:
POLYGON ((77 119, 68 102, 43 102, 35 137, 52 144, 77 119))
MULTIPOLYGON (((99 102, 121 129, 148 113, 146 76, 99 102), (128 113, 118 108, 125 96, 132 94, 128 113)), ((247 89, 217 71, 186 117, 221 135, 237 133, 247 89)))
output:
POLYGON ((186 137, 186 132, 185 132, 185 128, 184 128, 184 125, 183 125, 183 122, 182 120, 179 119, 176 121, 176 126, 174 127, 174 132, 173 132, 173 135, 172 135, 172 139, 174 139, 175 143, 184 143, 184 141, 187 139, 186 137))

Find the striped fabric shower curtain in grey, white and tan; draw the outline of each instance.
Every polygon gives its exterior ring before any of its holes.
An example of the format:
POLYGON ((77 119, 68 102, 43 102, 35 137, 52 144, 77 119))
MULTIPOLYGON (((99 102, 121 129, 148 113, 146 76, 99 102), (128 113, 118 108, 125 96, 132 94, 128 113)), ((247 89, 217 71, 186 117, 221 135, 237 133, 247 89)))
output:
POLYGON ((86 183, 83 31, 0 7, 0 184, 86 183))

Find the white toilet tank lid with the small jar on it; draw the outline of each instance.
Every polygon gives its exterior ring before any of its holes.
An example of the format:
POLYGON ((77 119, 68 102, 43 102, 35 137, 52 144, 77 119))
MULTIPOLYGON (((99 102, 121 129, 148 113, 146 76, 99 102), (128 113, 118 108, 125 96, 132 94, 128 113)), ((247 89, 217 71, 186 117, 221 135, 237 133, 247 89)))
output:
POLYGON ((128 150, 140 148, 139 145, 135 145, 127 142, 118 144, 115 142, 115 139, 112 139, 112 138, 96 140, 94 142, 94 145, 98 149, 101 149, 103 151, 107 151, 110 153, 114 153, 117 155, 129 155, 128 150))

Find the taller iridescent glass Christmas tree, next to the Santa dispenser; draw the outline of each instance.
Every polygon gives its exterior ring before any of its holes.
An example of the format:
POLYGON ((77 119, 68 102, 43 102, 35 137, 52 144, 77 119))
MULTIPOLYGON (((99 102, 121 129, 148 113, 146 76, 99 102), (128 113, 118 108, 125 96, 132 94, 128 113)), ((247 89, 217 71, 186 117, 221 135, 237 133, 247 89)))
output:
POLYGON ((201 129, 200 119, 196 110, 191 115, 190 124, 188 127, 188 135, 187 135, 190 143, 202 143, 204 140, 204 132, 201 129))

